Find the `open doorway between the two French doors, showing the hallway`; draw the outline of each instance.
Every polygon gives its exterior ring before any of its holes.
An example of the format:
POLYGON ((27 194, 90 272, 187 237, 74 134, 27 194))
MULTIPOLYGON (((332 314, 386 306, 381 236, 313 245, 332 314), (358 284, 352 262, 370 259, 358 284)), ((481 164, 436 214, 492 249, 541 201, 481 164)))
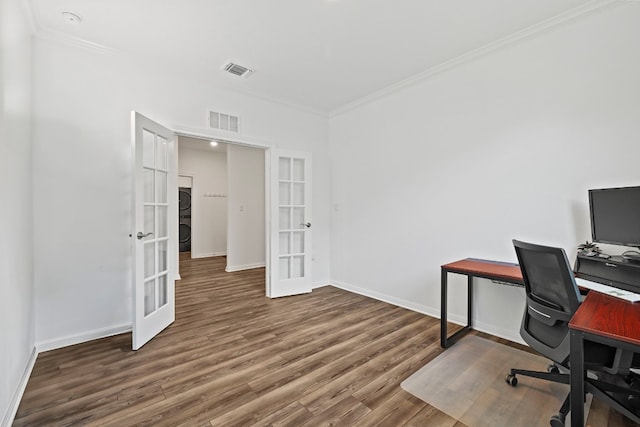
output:
POLYGON ((265 267, 264 168, 264 148, 179 135, 180 251, 225 256, 227 271, 265 267))

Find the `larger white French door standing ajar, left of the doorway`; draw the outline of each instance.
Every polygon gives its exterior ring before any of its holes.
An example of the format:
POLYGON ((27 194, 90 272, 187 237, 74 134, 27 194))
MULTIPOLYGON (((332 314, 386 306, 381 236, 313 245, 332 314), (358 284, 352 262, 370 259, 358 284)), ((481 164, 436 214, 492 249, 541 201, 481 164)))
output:
POLYGON ((133 190, 133 349, 175 319, 177 215, 175 141, 169 129, 131 113, 133 190), (175 212, 174 212, 175 211, 175 212))

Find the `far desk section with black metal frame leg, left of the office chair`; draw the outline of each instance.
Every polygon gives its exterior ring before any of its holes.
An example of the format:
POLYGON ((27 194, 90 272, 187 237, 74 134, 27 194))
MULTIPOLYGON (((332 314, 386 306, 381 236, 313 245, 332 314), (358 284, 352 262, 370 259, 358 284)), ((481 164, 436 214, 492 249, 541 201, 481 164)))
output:
POLYGON ((524 286, 518 264, 467 258, 440 267, 440 346, 447 348, 472 329, 473 278, 498 280, 524 286), (447 276, 449 273, 467 276, 467 325, 447 336, 447 276))

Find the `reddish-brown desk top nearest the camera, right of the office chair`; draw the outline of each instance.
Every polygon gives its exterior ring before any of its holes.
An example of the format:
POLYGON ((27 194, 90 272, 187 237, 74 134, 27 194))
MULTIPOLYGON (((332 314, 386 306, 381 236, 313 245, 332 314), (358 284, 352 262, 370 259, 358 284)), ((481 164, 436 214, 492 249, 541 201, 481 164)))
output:
POLYGON ((640 345, 640 302, 632 303, 590 291, 569 327, 640 345))

